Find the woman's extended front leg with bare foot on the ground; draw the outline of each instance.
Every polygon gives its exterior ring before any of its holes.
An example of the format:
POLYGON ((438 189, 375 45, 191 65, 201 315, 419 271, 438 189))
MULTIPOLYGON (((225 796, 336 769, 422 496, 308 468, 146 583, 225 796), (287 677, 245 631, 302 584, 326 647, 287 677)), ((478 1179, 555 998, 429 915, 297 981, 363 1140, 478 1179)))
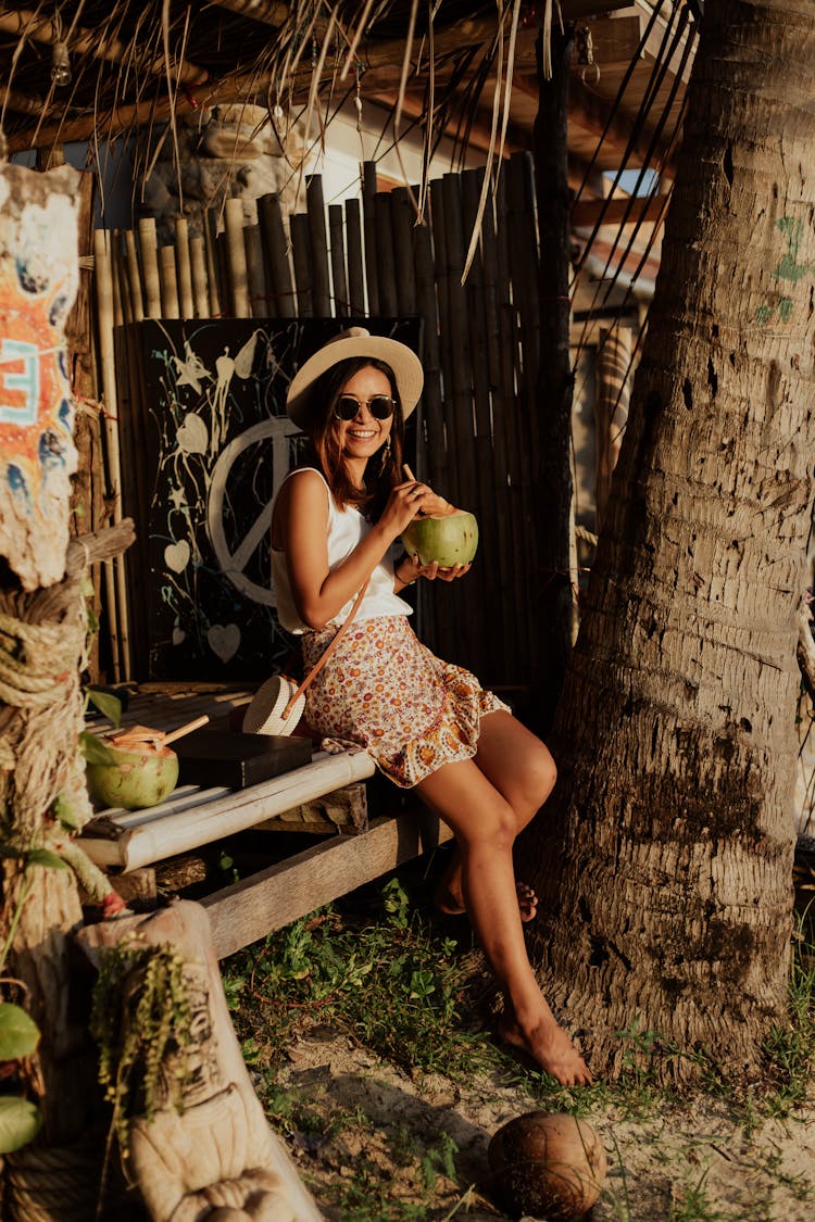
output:
POLYGON ((590 1081, 527 956, 512 869, 512 807, 475 760, 445 764, 417 786, 417 793, 458 840, 467 912, 506 1000, 501 1034, 563 1085, 590 1081))

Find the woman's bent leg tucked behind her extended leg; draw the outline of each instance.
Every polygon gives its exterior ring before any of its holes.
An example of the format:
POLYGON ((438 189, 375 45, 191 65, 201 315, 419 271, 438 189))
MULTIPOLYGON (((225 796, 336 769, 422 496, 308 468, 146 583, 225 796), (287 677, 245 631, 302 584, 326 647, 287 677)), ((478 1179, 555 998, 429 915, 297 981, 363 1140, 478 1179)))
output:
MULTIPOLYGON (((499 710, 481 720, 475 764, 510 803, 516 836, 546 802, 555 787, 557 769, 549 748, 508 712, 499 710)), ((436 904, 445 913, 464 912, 462 857, 458 844, 436 892, 436 904)), ((516 884, 523 921, 532 920, 538 897, 525 884, 516 884)))

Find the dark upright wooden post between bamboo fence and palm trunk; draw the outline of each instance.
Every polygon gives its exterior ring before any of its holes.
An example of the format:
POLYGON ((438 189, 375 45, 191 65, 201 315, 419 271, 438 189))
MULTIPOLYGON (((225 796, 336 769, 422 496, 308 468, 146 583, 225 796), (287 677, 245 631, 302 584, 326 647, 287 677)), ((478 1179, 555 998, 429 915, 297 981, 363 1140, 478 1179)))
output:
POLYGON ((541 626, 533 682, 543 730, 551 726, 572 649, 574 606, 569 578, 572 512, 569 356, 569 211, 567 110, 574 27, 551 35, 552 77, 543 68, 538 35, 540 101, 534 128, 540 263, 538 273, 540 362, 533 417, 535 472, 535 615, 541 626))

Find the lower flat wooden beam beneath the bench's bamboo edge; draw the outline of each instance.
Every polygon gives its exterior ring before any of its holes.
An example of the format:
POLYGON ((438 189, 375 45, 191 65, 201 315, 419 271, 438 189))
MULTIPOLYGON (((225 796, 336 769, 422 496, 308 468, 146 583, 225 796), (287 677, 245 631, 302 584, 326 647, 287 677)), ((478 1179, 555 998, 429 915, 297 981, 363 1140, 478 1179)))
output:
POLYGON ((202 899, 219 959, 452 838, 424 808, 376 819, 202 899))

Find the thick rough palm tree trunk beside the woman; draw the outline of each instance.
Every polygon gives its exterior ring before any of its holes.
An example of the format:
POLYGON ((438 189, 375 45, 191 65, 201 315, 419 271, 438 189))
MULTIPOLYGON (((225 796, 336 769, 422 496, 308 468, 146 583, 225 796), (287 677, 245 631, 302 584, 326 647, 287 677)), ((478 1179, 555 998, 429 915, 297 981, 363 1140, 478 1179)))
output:
MULTIPOLYGON (((783 1020, 815 442, 815 5, 705 5, 662 265, 558 715, 554 1004, 755 1067, 783 1020)), ((546 825, 536 836, 539 854, 546 825)), ((676 1058, 670 1073, 693 1075, 676 1058)))

